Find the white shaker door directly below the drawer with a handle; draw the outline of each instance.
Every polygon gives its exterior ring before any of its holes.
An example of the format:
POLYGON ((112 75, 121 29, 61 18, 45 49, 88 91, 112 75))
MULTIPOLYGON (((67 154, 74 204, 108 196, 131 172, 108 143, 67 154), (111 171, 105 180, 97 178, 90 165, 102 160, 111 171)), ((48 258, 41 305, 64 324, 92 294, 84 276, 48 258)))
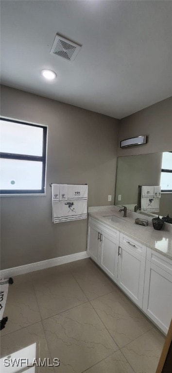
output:
POLYGON ((117 284, 140 308, 143 303, 144 272, 145 258, 121 245, 117 284))

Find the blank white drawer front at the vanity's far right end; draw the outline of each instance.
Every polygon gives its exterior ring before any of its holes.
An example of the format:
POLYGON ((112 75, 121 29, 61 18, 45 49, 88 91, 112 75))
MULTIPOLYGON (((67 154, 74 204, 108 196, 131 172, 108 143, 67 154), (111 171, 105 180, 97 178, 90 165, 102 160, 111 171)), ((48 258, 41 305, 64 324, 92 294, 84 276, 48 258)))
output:
POLYGON ((155 250, 147 247, 146 259, 150 260, 151 263, 155 264, 162 270, 172 274, 172 259, 168 258, 167 256, 159 254, 155 250))

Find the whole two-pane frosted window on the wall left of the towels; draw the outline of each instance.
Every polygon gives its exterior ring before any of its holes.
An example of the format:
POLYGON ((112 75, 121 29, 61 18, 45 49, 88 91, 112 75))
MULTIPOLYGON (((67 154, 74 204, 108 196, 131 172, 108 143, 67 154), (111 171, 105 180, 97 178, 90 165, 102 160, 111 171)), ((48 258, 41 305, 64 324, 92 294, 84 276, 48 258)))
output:
POLYGON ((45 193, 47 127, 0 118, 0 193, 45 193))

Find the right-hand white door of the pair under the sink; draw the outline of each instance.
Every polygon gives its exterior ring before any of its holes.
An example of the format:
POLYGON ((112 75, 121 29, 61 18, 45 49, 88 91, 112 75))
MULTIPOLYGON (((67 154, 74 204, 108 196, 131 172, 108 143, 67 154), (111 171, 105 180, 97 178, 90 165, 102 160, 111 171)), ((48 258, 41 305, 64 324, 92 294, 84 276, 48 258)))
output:
POLYGON ((100 267, 115 282, 118 274, 118 246, 116 236, 105 231, 101 232, 100 267))

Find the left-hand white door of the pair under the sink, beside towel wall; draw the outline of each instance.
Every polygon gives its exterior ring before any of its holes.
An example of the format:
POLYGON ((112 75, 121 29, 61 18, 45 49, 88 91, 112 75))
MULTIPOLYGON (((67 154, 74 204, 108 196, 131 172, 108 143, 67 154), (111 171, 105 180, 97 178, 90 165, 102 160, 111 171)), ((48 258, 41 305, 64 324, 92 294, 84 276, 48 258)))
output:
POLYGON ((97 264, 100 263, 100 235, 101 230, 98 227, 88 225, 87 252, 97 264))

